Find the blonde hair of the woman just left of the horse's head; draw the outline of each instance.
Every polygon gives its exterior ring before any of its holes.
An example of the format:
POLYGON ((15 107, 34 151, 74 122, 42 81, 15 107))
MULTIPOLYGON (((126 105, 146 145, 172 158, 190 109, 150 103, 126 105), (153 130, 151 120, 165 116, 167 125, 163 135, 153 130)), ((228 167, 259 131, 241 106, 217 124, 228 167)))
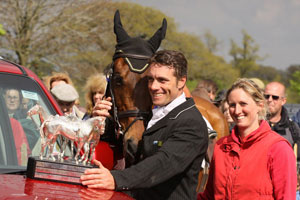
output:
POLYGON ((94 74, 87 79, 84 89, 85 89, 86 110, 88 114, 92 113, 94 107, 93 95, 96 92, 105 94, 106 85, 107 85, 106 77, 102 73, 94 74))

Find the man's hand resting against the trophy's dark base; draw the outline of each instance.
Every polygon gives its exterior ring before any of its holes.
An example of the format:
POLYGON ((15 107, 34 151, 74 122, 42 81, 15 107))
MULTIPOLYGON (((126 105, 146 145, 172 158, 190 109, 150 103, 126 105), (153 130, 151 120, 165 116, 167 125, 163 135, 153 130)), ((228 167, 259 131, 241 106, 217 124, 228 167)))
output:
POLYGON ((80 177, 82 185, 86 185, 89 188, 114 190, 115 180, 110 171, 98 160, 94 160, 94 163, 99 168, 85 170, 84 174, 80 177))

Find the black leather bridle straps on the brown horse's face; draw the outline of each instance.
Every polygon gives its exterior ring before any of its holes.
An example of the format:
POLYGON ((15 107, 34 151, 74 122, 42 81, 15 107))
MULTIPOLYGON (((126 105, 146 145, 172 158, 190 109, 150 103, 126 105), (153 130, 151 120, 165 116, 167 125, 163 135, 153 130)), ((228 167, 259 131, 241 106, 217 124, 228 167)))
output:
POLYGON ((107 79, 108 79, 108 88, 111 99, 112 99, 112 105, 113 105, 113 121, 117 124, 116 131, 118 134, 125 135, 130 127, 137 122, 138 120, 143 120, 144 126, 147 123, 147 120, 150 116, 149 111, 141 111, 139 109, 136 110, 126 110, 126 111, 118 111, 118 107, 116 105, 116 100, 115 100, 115 95, 113 92, 113 87, 112 87, 112 78, 113 78, 113 73, 114 73, 114 62, 118 58, 135 58, 135 59, 149 59, 148 56, 143 56, 143 55, 137 55, 137 54, 128 54, 124 53, 122 50, 116 51, 114 56, 113 56, 113 62, 110 64, 108 73, 107 73, 107 79), (122 130, 122 126, 120 124, 119 119, 122 118, 129 118, 129 117, 135 117, 134 120, 129 124, 129 126, 125 127, 124 130, 122 130))

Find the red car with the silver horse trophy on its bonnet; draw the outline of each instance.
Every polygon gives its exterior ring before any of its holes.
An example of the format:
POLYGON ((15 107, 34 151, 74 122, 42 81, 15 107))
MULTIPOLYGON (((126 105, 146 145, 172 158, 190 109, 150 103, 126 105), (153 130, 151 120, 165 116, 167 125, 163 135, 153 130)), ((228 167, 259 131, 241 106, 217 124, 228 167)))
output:
MULTIPOLYGON (((132 199, 121 192, 27 178, 28 157, 39 156, 41 149, 41 118, 28 115, 35 105, 47 115, 62 115, 37 75, 0 57, 0 199, 132 199)), ((109 168, 113 158, 107 147, 100 143, 96 158, 109 168)))

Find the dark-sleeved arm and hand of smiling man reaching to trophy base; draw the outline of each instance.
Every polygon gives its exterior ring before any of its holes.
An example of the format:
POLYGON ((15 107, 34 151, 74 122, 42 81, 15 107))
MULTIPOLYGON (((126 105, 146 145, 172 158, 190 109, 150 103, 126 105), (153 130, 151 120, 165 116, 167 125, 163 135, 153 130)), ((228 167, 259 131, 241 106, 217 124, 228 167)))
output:
MULTIPOLYGON (((183 172, 196 157, 204 157, 207 128, 205 122, 199 124, 199 120, 188 119, 175 124, 172 136, 153 156, 122 171, 109 172, 102 166, 86 170, 81 176, 82 184, 101 189, 131 190, 152 187, 183 172)), ((199 167, 200 164, 201 161, 199 167)))

